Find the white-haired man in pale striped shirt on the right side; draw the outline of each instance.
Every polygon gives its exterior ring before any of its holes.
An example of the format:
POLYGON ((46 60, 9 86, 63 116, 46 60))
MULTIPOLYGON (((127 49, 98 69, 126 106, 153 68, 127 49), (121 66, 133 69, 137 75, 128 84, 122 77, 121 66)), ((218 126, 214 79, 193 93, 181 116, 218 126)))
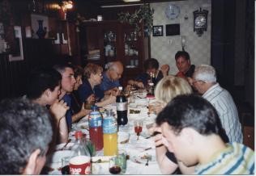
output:
POLYGON ((192 86, 203 94, 217 110, 230 142, 243 142, 237 107, 232 96, 216 82, 215 69, 211 65, 199 65, 194 70, 192 86))

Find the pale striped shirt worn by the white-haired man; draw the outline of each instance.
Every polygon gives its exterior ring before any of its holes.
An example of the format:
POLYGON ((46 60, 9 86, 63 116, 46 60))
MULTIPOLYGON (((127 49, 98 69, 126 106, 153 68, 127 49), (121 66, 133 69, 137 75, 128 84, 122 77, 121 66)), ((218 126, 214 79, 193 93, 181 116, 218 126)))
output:
POLYGON ((243 136, 237 107, 228 91, 216 83, 203 94, 203 98, 206 98, 218 112, 229 142, 242 143, 243 136))

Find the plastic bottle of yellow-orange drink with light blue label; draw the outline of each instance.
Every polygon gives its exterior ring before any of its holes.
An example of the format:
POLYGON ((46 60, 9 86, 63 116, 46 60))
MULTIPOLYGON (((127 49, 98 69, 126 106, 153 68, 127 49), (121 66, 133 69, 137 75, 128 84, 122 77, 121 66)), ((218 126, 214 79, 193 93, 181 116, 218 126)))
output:
POLYGON ((117 155, 117 120, 113 117, 113 111, 108 110, 103 118, 103 144, 104 155, 117 155))

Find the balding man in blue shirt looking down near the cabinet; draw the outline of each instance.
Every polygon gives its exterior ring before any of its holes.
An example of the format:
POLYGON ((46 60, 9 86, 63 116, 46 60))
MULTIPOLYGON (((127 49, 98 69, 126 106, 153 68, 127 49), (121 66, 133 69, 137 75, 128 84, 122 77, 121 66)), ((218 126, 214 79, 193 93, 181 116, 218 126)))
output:
POLYGON ((122 78, 122 73, 124 71, 120 61, 109 62, 106 67, 107 70, 103 74, 103 79, 100 83, 100 89, 105 92, 117 89, 118 86, 121 86, 119 79, 122 78))

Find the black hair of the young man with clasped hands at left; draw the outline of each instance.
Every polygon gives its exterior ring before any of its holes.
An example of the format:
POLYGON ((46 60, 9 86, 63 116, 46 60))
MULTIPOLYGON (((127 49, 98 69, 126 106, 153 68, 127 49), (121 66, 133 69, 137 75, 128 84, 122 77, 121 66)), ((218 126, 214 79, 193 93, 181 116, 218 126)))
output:
POLYGON ((61 73, 52 68, 33 69, 28 77, 26 94, 28 98, 40 98, 47 89, 54 90, 62 81, 61 73))

